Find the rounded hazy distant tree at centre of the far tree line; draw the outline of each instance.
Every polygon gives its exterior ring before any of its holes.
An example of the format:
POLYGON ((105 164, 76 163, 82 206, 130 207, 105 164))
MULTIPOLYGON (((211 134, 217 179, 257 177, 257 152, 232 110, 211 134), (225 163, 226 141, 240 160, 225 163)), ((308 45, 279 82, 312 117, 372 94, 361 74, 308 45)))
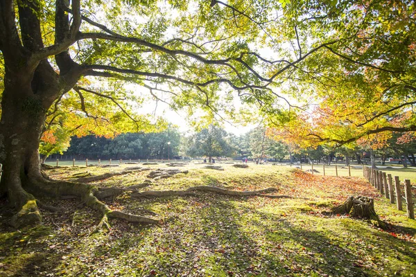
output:
POLYGON ((235 152, 229 143, 229 136, 224 129, 209 125, 208 128, 189 137, 187 154, 191 157, 206 156, 211 162, 212 157, 231 155, 235 152))

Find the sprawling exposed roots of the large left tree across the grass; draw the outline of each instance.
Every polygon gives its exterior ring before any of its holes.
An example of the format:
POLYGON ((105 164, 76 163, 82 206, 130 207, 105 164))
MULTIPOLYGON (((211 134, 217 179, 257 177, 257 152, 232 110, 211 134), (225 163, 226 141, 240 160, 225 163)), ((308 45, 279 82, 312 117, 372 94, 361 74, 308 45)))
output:
MULTIPOLYGON (((139 169, 141 170, 141 169, 139 169)), ((123 174, 128 172, 134 172, 134 170, 124 170, 123 174)), ((185 173, 181 170, 166 170, 169 175, 177 173, 185 173)), ((187 171, 186 171, 187 172, 187 171)), ((114 175, 113 175, 114 176, 114 175)), ((195 186, 188 188, 187 190, 160 190, 160 191, 144 191, 139 192, 137 188, 141 186, 148 186, 152 184, 152 181, 145 181, 143 184, 138 184, 135 186, 130 186, 128 188, 96 188, 84 183, 76 183, 70 181, 49 181, 44 179, 41 175, 34 177, 29 181, 28 188, 36 194, 46 193, 48 195, 53 195, 55 197, 62 196, 75 196, 80 197, 83 204, 93 208, 94 210, 101 213, 102 217, 100 222, 98 222, 96 228, 92 233, 101 231, 101 229, 110 229, 109 219, 120 219, 126 220, 128 222, 137 222, 141 224, 162 224, 162 220, 157 220, 151 217, 141 216, 141 215, 132 215, 130 213, 124 213, 122 211, 112 211, 112 209, 107 206, 105 203, 101 202, 100 199, 110 196, 120 195, 127 191, 132 192, 132 197, 165 197, 165 196, 184 196, 184 195, 193 195, 197 191, 209 192, 209 193, 218 193, 220 195, 231 195, 231 196, 250 196, 250 195, 266 195, 266 193, 272 193, 277 191, 276 188, 266 188, 263 190, 252 190, 252 191, 236 191, 236 190, 226 190, 223 188, 217 188, 214 186, 195 186)), ((26 193, 25 190, 22 190, 23 193, 26 193)), ((272 196, 272 195, 270 195, 272 196)), ((274 195, 275 197, 281 197, 274 195)), ((46 206, 41 202, 38 202, 33 195, 26 193, 26 203, 21 206, 21 210, 17 213, 14 218, 12 218, 12 224, 16 228, 20 226, 26 226, 26 223, 30 222, 31 224, 40 224, 42 217, 37 208, 44 208, 48 211, 62 211, 59 208, 46 206)), ((157 215, 152 211, 142 210, 143 213, 148 213, 151 215, 157 215)), ((73 216, 75 217, 75 215, 73 216)))

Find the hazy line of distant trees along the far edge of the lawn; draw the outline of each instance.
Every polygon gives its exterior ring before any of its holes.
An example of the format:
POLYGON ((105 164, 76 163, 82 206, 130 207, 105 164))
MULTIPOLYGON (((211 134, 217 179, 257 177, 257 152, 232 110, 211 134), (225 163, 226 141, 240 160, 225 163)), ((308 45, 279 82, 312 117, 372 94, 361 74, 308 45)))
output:
POLYGON ((168 159, 180 157, 205 157, 208 161, 216 157, 234 159, 268 159, 302 163, 337 163, 346 165, 371 163, 380 159, 384 164, 390 157, 396 157, 404 166, 416 166, 416 140, 413 135, 395 134, 378 145, 343 145, 331 148, 319 145, 302 149, 273 138, 266 127, 256 127, 246 134, 236 136, 225 129, 209 125, 199 132, 185 136, 175 127, 158 133, 127 133, 114 139, 100 136, 73 137, 71 146, 63 152, 67 158, 76 159, 168 159))

